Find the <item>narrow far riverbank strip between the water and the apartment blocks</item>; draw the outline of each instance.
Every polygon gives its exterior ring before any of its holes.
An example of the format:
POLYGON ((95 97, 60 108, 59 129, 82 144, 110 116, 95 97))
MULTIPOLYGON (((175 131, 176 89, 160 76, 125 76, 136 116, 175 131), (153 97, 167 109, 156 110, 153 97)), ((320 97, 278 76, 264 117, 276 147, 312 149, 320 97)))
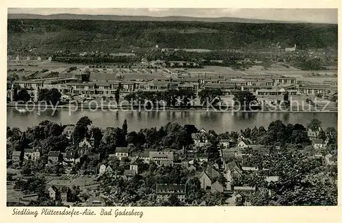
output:
POLYGON ((21 108, 26 109, 27 112, 32 112, 34 110, 45 111, 47 109, 68 109, 71 112, 90 110, 90 111, 109 111, 114 112, 117 110, 120 111, 138 111, 138 112, 150 112, 150 111, 174 111, 174 112, 338 112, 337 107, 313 107, 313 106, 303 106, 303 107, 289 107, 287 109, 280 109, 280 107, 269 107, 269 106, 259 106, 253 107, 251 110, 244 110, 240 107, 224 107, 224 106, 189 106, 189 107, 148 107, 144 105, 94 105, 90 103, 83 103, 78 105, 40 105, 38 103, 33 104, 18 104, 16 103, 7 103, 7 107, 10 108, 21 108))

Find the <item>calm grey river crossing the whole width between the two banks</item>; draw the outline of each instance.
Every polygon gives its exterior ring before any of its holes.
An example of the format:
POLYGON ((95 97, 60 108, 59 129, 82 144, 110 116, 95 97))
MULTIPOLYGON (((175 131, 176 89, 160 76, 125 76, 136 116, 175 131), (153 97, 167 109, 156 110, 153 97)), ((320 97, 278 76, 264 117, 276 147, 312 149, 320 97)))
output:
POLYGON ((218 133, 225 131, 239 131, 241 129, 267 127, 274 120, 287 123, 308 124, 313 118, 321 121, 324 129, 334 127, 337 129, 337 113, 313 112, 200 112, 200 111, 96 111, 84 110, 69 114, 68 109, 47 110, 41 114, 27 112, 21 114, 13 107, 7 108, 7 124, 9 127, 18 127, 25 131, 27 127, 38 125, 43 120, 51 120, 58 124, 75 124, 79 118, 88 116, 96 127, 121 127, 127 120, 129 131, 138 131, 142 128, 161 127, 168 122, 179 124, 195 124, 207 130, 218 133))

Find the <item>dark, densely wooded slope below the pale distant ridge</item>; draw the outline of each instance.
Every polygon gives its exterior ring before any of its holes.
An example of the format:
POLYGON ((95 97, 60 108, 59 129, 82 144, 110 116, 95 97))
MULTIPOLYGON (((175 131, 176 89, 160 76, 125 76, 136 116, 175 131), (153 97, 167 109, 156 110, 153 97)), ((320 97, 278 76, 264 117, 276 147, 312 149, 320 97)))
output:
POLYGON ((114 52, 154 47, 337 49, 337 25, 81 20, 8 20, 8 50, 114 52))

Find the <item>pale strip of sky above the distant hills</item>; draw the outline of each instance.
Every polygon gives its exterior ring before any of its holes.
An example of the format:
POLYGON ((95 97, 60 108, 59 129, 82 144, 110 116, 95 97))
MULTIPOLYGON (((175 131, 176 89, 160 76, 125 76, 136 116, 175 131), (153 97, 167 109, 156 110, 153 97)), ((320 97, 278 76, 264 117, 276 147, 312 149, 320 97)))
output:
POLYGON ((265 8, 8 8, 9 14, 102 14, 122 16, 235 17, 337 24, 337 9, 265 8))

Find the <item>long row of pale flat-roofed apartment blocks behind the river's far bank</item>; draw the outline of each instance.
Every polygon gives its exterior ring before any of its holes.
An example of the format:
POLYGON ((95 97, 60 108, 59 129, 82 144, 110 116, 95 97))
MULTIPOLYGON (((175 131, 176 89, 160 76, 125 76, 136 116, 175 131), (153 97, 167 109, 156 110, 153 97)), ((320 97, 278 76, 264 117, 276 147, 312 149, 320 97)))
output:
MULTIPOLYGON (((250 78, 250 77, 249 77, 250 78)), ((268 78, 268 77, 267 77, 268 78)), ((272 77, 272 79, 169 79, 155 81, 91 81, 88 83, 56 83, 56 81, 14 81, 21 88, 56 88, 63 94, 103 94, 112 95, 121 84, 121 92, 158 91, 170 89, 191 89, 198 92, 203 89, 221 89, 225 94, 233 94, 236 90, 246 90, 257 95, 282 94, 331 94, 337 92, 337 85, 330 84, 298 84, 295 77, 272 77), (275 84, 276 83, 276 84, 275 84)))

